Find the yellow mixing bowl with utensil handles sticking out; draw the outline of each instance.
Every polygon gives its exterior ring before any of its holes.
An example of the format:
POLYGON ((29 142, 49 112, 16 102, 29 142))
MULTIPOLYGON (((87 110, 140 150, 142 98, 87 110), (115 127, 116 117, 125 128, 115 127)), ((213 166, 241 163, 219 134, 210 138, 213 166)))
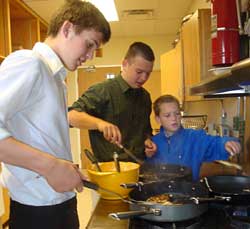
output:
MULTIPOLYGON (((120 173, 116 171, 115 163, 113 161, 100 162, 99 165, 102 172, 98 172, 94 165, 91 165, 87 170, 90 180, 98 184, 100 187, 119 193, 122 197, 126 198, 131 189, 122 188, 120 187, 120 184, 138 182, 140 165, 133 162, 120 161, 120 173)), ((118 196, 101 190, 99 193, 103 199, 119 199, 118 196)))

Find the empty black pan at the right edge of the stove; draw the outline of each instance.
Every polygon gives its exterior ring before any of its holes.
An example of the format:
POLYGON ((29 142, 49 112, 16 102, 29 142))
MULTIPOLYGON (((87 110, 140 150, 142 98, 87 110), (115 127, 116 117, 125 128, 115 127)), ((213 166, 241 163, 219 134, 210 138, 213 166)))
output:
POLYGON ((203 178, 210 196, 229 196, 230 204, 249 205, 250 177, 220 175, 203 178))

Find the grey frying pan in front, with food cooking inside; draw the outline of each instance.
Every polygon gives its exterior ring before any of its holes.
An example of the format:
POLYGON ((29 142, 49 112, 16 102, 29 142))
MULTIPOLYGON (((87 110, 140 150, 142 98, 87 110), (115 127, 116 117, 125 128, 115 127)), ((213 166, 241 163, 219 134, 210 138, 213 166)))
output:
MULTIPOLYGON (((137 187, 129 193, 129 212, 117 212, 109 214, 114 219, 127 219, 140 217, 146 220, 158 222, 178 222, 195 218, 207 210, 207 203, 195 204, 193 197, 207 200, 209 192, 200 183, 187 181, 162 181, 151 182, 137 187), (160 194, 171 194, 177 196, 179 204, 164 205, 146 201, 149 197, 160 194), (181 197, 179 200, 179 196, 181 197)), ((210 200, 210 199, 209 199, 210 200)))

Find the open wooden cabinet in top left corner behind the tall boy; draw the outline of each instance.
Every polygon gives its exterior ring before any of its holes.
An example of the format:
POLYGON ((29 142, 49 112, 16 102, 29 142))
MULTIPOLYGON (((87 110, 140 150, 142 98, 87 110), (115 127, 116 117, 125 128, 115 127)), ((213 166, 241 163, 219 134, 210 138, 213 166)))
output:
POLYGON ((47 22, 20 0, 0 0, 0 62, 18 49, 45 39, 47 22))

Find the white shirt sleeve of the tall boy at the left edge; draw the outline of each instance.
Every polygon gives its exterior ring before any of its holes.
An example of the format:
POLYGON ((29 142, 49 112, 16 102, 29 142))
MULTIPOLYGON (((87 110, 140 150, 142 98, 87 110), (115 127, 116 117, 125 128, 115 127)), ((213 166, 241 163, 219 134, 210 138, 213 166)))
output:
POLYGON ((0 140, 11 136, 7 123, 30 98, 34 84, 38 82, 38 62, 35 58, 7 57, 0 66, 0 140))

